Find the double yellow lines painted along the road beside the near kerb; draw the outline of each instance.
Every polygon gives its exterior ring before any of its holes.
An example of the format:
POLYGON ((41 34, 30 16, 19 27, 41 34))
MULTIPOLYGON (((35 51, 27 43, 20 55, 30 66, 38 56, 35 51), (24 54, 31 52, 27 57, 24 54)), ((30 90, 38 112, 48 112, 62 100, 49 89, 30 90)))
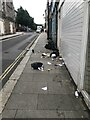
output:
POLYGON ((15 61, 12 64, 10 64, 10 66, 2 73, 2 75, 0 76, 0 81, 3 80, 12 70, 12 68, 19 62, 19 60, 22 57, 24 57, 24 55, 27 53, 27 49, 32 46, 32 44, 35 42, 37 37, 38 36, 34 38, 34 40, 19 54, 19 56, 15 59, 15 61))

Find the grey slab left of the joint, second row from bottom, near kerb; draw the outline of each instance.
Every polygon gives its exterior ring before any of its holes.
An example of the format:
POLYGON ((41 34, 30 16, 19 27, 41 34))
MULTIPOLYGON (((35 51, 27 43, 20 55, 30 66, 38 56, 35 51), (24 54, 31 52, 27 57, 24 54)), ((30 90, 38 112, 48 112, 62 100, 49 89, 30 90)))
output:
POLYGON ((7 102, 6 109, 30 109, 37 108, 37 95, 35 94, 12 94, 7 102))

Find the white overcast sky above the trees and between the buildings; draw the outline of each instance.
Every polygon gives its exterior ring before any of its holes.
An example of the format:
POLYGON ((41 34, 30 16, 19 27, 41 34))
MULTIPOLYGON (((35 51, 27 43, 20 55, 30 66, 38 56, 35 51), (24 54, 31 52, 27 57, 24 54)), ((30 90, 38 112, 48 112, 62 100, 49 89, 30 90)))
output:
POLYGON ((22 6, 34 18, 34 22, 37 24, 45 23, 43 14, 45 14, 46 3, 47 0, 13 0, 15 10, 22 6))

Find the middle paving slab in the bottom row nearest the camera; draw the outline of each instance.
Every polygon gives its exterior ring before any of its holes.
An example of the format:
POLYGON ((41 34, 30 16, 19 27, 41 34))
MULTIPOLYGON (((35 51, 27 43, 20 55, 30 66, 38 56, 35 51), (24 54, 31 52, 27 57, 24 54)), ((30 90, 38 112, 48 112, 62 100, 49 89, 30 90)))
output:
POLYGON ((60 118, 55 110, 18 110, 15 118, 60 118))

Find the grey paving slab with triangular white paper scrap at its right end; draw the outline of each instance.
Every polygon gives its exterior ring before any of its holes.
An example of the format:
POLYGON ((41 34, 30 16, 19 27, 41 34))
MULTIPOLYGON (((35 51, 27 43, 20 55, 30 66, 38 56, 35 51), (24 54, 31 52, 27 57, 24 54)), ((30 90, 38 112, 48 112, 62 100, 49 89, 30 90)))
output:
POLYGON ((44 87, 47 87, 46 82, 23 82, 23 81, 20 81, 15 86, 13 93, 46 94, 48 91, 43 90, 42 88, 44 88, 44 87))

